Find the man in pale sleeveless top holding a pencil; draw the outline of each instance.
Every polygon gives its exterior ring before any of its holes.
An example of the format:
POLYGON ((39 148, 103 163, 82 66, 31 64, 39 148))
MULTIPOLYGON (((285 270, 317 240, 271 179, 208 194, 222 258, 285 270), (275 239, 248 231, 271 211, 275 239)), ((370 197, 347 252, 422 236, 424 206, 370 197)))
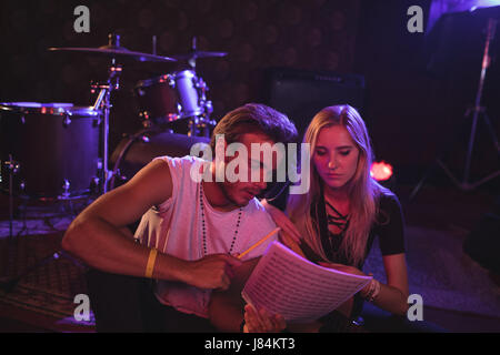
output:
MULTIPOLYGON (((222 149, 239 143, 251 152, 251 143, 291 142, 297 138, 297 130, 287 116, 271 108, 247 104, 229 112, 216 126, 212 151, 220 149, 216 146, 219 134, 224 138, 222 149)), ((68 229, 62 247, 91 267, 106 272, 100 283, 91 282, 90 287, 94 290, 109 288, 116 282, 109 274, 134 276, 132 282, 126 278, 126 284, 131 284, 133 290, 137 278, 139 283, 144 276, 158 281, 154 297, 147 292, 144 295, 144 287, 140 287, 137 296, 140 303, 147 303, 144 312, 157 316, 151 324, 142 314, 138 315, 136 323, 142 322, 146 326, 142 329, 194 332, 212 331, 214 325, 223 331, 238 331, 241 307, 231 302, 232 296, 211 302, 211 292, 227 291, 232 281, 237 286, 231 290, 241 287, 256 257, 269 242, 241 260, 233 255, 241 254, 276 227, 256 199, 267 187, 263 176, 278 165, 273 159, 272 166, 267 166, 262 154, 257 164, 256 156, 247 156, 248 176, 257 169, 260 179, 236 182, 218 179, 217 172, 223 169, 221 163, 228 166, 236 159, 241 163, 244 156, 240 154, 224 155, 223 160, 216 155, 201 182, 193 179, 197 169, 203 166, 199 159, 156 159, 127 184, 88 206, 68 229), (130 237, 126 226, 139 219, 136 237, 130 237)), ((240 168, 241 164, 236 173, 242 173, 240 168)), ((127 324, 123 314, 137 310, 128 310, 133 306, 121 303, 130 297, 128 291, 117 290, 112 297, 108 292, 107 301, 92 300, 90 295, 97 322, 108 320, 117 331, 141 331, 137 324, 127 324), (99 314, 111 310, 116 310, 111 320, 99 314)))

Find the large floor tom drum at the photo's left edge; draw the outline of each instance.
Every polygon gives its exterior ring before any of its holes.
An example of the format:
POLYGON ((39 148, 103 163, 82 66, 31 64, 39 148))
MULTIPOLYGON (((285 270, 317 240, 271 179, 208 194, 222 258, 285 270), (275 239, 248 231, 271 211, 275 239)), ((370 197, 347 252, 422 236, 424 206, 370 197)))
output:
POLYGON ((98 176, 98 111, 71 103, 0 104, 1 186, 31 197, 86 194, 98 176), (17 171, 9 162, 19 165, 17 171))

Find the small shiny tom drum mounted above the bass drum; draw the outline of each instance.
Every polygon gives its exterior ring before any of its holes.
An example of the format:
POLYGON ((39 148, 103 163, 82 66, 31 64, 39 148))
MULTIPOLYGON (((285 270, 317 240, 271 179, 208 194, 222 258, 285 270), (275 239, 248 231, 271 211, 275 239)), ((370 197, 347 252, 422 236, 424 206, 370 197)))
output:
POLYGON ((192 70, 142 80, 136 89, 140 116, 146 126, 207 113, 207 84, 192 70))

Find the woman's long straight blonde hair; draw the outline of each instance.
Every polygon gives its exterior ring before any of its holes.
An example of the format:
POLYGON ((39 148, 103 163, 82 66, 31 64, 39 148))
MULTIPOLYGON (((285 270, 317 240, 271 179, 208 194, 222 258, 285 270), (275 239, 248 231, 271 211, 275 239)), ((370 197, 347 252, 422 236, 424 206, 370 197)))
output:
MULTIPOLYGON (((377 215, 378 196, 382 193, 390 194, 390 191, 370 176, 370 166, 373 161, 370 138, 363 120, 354 108, 350 105, 328 106, 312 119, 303 138, 303 143, 310 144, 310 189, 306 194, 290 194, 287 212, 309 246, 323 260, 327 260, 321 245, 318 216, 314 216, 316 221, 311 216, 311 206, 320 200, 321 184, 323 183, 316 171, 312 158, 320 131, 332 125, 344 126, 359 149, 358 168, 348 182, 350 221, 339 251, 351 265, 359 265, 366 256, 368 236, 377 215)), ((324 206, 319 207, 323 209, 324 206)))

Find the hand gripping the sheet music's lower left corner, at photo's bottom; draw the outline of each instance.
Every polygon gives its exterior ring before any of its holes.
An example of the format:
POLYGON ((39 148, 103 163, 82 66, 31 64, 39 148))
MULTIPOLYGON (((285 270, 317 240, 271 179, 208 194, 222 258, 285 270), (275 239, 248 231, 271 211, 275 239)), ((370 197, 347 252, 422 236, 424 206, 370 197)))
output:
POLYGON ((270 315, 263 308, 257 311, 250 304, 244 306, 243 333, 280 333, 286 327, 287 323, 281 315, 270 315))

